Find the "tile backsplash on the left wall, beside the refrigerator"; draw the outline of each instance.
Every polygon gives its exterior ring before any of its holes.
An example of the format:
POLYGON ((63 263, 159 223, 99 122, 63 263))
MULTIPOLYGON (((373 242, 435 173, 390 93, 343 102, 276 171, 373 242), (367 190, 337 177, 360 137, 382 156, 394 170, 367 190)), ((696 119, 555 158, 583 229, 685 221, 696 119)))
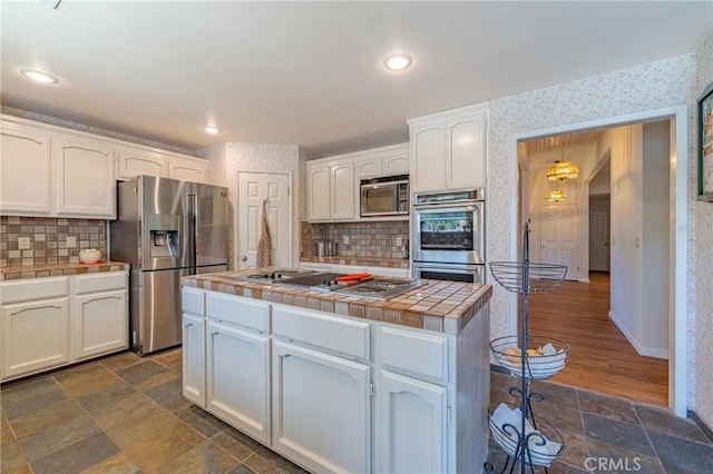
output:
POLYGON ((0 216, 0 267, 76 264, 82 248, 99 248, 106 257, 106 220, 0 216), (20 237, 29 238, 29 249, 20 250, 20 237))

